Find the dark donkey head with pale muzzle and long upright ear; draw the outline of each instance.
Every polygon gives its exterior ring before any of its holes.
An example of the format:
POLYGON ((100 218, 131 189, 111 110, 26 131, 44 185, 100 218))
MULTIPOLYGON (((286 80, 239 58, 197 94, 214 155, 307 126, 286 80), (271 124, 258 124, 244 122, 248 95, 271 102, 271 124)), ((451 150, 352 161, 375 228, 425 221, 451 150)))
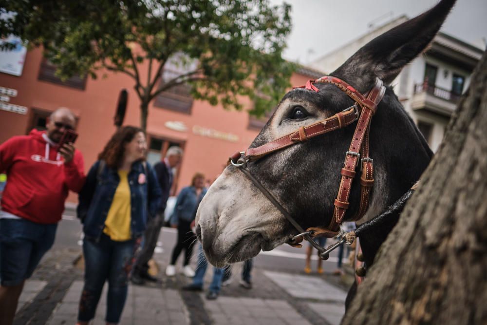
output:
MULTIPOLYGON (((331 75, 360 93, 375 78, 390 84, 401 69, 431 42, 454 0, 443 0, 362 47, 331 75)), ((251 144, 251 148, 313 124, 354 105, 333 84, 315 84, 319 91, 294 89, 251 144)), ((327 226, 340 182, 345 152, 355 124, 300 142, 250 162, 247 170, 277 198, 303 229, 327 226)), ((375 185, 365 219, 394 202, 419 179, 431 150, 388 88, 370 129, 375 185)), ((358 178, 358 177, 356 177, 358 178)), ((352 184, 347 217, 354 215, 360 186, 352 184)), ((242 172, 228 166, 213 183, 197 212, 197 234, 208 261, 223 266, 251 258, 286 242, 296 229, 242 172)))

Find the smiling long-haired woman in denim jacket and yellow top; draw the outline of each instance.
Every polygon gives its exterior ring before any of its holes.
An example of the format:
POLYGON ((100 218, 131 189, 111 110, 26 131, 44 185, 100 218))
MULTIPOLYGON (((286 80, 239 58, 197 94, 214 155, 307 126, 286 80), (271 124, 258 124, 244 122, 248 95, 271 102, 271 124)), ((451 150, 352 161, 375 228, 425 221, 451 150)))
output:
POLYGON ((155 215, 161 190, 152 167, 144 161, 144 132, 118 130, 94 163, 79 193, 78 216, 85 234, 85 284, 78 324, 93 318, 108 280, 107 324, 120 321, 134 253, 149 218, 155 215))

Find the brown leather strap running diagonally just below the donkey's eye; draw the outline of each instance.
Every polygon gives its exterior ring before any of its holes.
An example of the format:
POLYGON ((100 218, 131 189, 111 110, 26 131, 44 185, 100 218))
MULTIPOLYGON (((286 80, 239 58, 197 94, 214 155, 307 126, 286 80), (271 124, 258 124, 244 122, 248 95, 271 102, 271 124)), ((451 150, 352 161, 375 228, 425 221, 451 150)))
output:
POLYGON ((274 141, 267 142, 260 147, 248 148, 245 151, 245 159, 256 160, 266 154, 281 150, 282 148, 288 147, 295 143, 305 141, 309 138, 339 129, 340 118, 343 118, 341 122, 341 128, 344 128, 347 125, 350 125, 356 121, 356 113, 356 108, 350 108, 348 111, 340 112, 314 124, 308 125, 306 127, 301 127, 293 133, 286 134, 274 141))

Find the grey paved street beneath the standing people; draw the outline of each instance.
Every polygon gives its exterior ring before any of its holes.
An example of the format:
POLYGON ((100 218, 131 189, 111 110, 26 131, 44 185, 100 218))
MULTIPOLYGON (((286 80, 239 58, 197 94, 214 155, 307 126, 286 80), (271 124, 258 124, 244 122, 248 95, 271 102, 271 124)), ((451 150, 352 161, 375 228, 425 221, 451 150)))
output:
MULTIPOLYGON (((83 286, 81 226, 66 213, 60 223, 54 248, 46 254, 20 298, 14 324, 75 324, 83 286)), ((336 255, 324 263, 325 274, 304 274, 304 249, 282 246, 255 258, 251 289, 239 286, 242 263, 233 268, 232 282, 217 300, 205 292, 187 292, 181 287, 190 279, 178 273, 168 278, 164 270, 175 243, 174 229, 164 229, 155 254, 161 279, 157 284, 129 286, 120 324, 339 324, 344 313, 346 286, 331 275, 336 255)), ((180 258, 181 259, 181 258, 180 258)), ((313 261, 316 269, 316 260, 313 261)), ((194 261, 193 261, 193 267, 194 261)), ((178 270, 181 270, 178 261, 178 270)), ((211 281, 208 268, 205 288, 211 281)), ((97 308, 95 325, 104 324, 106 290, 97 308)))

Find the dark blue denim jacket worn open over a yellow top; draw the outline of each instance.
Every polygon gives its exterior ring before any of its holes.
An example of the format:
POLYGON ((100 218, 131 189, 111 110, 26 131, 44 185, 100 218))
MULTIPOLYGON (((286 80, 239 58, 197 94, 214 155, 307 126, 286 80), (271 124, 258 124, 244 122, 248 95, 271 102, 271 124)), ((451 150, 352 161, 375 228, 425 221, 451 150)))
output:
MULTIPOLYGON (((96 161, 86 177, 86 183, 79 192, 78 217, 83 222, 83 232, 87 238, 98 240, 105 228, 105 220, 112 206, 113 195, 120 182, 115 169, 105 165, 98 172, 100 162, 96 161), (99 176, 98 176, 99 173, 99 176)), ((131 192, 131 235, 140 237, 146 229, 149 218, 155 216, 161 189, 154 170, 149 163, 141 161, 132 164, 128 174, 131 192), (146 175, 147 173, 147 175, 146 175)))

